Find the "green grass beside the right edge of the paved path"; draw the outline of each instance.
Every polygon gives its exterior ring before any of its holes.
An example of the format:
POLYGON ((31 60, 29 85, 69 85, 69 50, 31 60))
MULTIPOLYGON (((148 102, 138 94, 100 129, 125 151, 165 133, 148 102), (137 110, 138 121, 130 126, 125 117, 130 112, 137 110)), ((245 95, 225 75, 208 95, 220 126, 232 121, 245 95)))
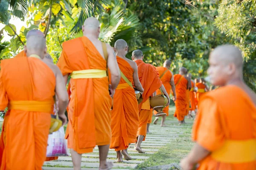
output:
MULTIPOLYGON (((170 107, 170 116, 166 118, 166 125, 177 125, 177 119, 173 117, 174 107, 170 107)), ((172 140, 165 146, 161 147, 157 153, 154 153, 142 164, 139 164, 137 169, 141 170, 145 167, 153 167, 157 165, 166 165, 179 163, 180 159, 184 158, 191 150, 193 142, 191 141, 192 120, 185 119, 186 124, 179 128, 185 129, 185 133, 177 139, 172 140)))

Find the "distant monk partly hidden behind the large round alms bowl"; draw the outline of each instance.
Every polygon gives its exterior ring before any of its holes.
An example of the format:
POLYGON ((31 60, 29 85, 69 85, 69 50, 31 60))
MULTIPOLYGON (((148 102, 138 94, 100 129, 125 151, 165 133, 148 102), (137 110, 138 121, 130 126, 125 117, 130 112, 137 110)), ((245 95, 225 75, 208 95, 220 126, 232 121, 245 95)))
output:
MULTIPOLYGON (((170 96, 171 89, 173 91, 173 97, 174 101, 176 100, 176 92, 175 92, 175 84, 174 84, 174 77, 172 71, 170 71, 172 62, 169 59, 166 59, 163 63, 163 67, 157 67, 157 71, 160 75, 160 80, 163 82, 163 86, 165 87, 168 95, 170 96)), ((157 95, 161 94, 161 91, 157 89, 157 95)), ((165 107, 163 109, 163 112, 166 113, 166 116, 169 116, 169 106, 165 107)), ((154 111, 154 115, 157 114, 157 111, 154 111)), ((161 126, 165 126, 164 122, 166 119, 166 116, 163 116, 161 126)), ((154 125, 157 125, 157 120, 159 117, 156 117, 154 120, 154 125)))

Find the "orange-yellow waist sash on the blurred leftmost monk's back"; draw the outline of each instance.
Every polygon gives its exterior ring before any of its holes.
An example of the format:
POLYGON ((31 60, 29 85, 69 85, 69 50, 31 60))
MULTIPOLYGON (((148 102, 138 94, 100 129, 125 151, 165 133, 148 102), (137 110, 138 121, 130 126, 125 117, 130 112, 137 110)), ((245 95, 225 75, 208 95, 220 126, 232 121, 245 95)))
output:
POLYGON ((45 112, 52 113, 52 101, 9 101, 8 108, 20 111, 35 111, 35 112, 45 112))

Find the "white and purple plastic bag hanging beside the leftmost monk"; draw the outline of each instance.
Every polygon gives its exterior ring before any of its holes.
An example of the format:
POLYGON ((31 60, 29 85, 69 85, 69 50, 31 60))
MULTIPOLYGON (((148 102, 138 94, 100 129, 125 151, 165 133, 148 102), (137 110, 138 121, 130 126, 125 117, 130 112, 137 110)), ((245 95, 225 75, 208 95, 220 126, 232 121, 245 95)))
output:
POLYGON ((46 157, 69 156, 67 139, 64 139, 64 127, 48 136, 46 157))

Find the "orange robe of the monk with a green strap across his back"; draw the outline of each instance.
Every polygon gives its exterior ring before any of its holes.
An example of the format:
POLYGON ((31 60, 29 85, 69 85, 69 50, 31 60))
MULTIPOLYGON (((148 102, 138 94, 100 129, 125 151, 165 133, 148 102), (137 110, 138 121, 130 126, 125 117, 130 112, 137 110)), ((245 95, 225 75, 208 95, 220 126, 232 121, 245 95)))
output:
MULTIPOLYGON (((116 56, 119 69, 133 83, 134 70, 131 65, 116 56)), ((111 144, 110 148, 125 150, 129 144, 135 143, 139 127, 139 111, 134 88, 121 78, 113 96, 113 110, 111 111, 111 144)))

